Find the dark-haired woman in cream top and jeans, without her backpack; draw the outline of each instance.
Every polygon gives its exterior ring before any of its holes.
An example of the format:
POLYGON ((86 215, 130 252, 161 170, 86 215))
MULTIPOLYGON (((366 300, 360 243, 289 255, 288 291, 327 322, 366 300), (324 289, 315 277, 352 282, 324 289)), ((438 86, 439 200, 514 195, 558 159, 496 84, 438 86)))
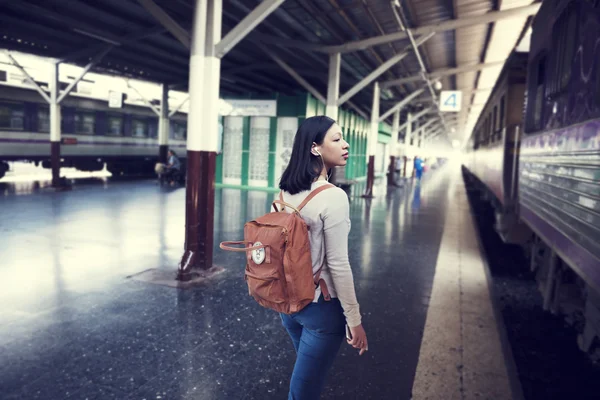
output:
MULTIPOLYGON (((311 190, 328 183, 328 171, 346 165, 348 143, 329 117, 307 118, 296 133, 290 162, 279 188, 283 200, 298 206, 311 190)), ((350 207, 346 193, 337 187, 317 194, 301 211, 309 226, 313 273, 321 266, 331 299, 325 301, 317 287, 311 304, 295 314, 281 314, 283 326, 296 349, 296 364, 288 399, 315 400, 349 327, 348 343, 368 347, 348 262, 350 207)))

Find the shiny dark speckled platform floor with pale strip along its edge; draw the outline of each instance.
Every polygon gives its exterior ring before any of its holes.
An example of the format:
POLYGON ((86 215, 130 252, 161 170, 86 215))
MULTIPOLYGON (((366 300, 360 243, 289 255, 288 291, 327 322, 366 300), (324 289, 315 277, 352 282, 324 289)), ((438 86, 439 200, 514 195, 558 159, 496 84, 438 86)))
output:
MULTIPOLYGON (((381 182, 372 201, 352 190, 350 262, 369 352, 342 346, 323 399, 511 398, 458 166, 403 189, 381 182)), ((175 273, 183 188, 2 192, 2 399, 286 398, 293 347, 279 317, 248 297, 239 255, 215 249, 225 272, 194 289, 127 278, 175 273)), ((272 197, 218 189, 215 243, 240 238, 272 197)))

